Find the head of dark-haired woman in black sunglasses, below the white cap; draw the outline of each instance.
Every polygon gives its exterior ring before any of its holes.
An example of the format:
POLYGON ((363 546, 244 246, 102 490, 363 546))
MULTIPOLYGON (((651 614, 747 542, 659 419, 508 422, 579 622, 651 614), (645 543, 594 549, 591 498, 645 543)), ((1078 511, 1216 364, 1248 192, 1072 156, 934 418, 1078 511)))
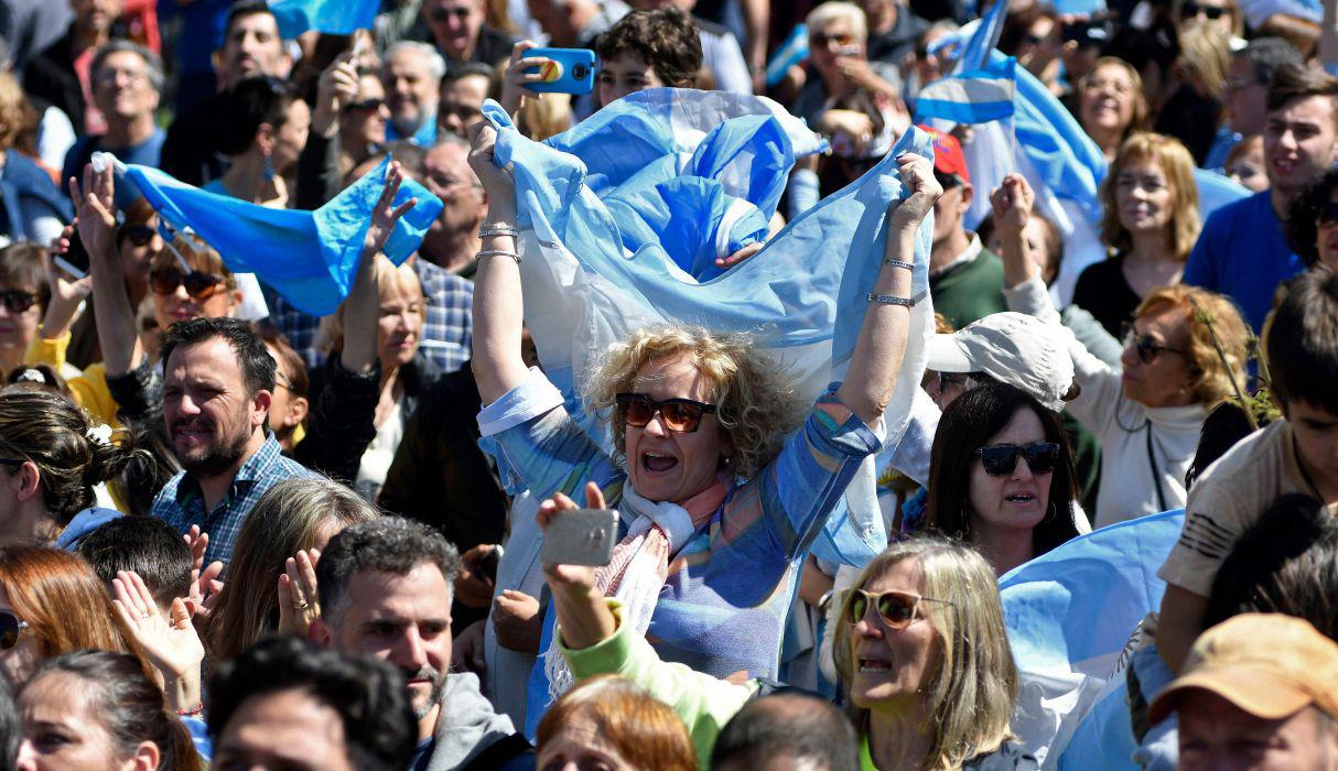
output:
POLYGON ((1078 534, 1073 454, 1058 416, 986 382, 943 410, 925 526, 970 543, 1004 575, 1078 534))

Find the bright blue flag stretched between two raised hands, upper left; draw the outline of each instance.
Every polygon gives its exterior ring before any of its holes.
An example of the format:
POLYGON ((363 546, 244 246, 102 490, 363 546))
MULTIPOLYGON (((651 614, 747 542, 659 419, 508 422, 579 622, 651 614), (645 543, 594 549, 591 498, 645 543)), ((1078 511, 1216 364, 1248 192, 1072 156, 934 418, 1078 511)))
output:
MULTIPOLYGON (((147 166, 127 166, 124 174, 173 228, 199 235, 229 270, 254 273, 298 310, 329 315, 353 287, 388 167, 389 158, 316 211, 269 208, 206 192, 147 166)), ((442 212, 439 198, 405 179, 395 203, 409 198, 417 203, 383 250, 396 265, 417 249, 442 212)))

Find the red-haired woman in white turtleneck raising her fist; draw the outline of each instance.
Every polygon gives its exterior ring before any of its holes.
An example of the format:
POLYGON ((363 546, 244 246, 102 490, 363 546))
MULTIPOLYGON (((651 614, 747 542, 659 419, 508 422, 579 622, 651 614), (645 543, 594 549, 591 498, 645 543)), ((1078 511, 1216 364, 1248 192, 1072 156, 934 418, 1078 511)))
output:
MULTIPOLYGON (((1060 326, 1022 235, 1034 204, 1030 186, 1009 175, 991 203, 1009 307, 1060 326)), ((1082 394, 1066 409, 1101 441, 1097 526, 1183 506, 1184 472, 1208 410, 1244 389, 1248 329, 1219 294, 1184 285, 1157 289, 1133 310, 1121 339, 1121 369, 1069 339, 1082 394)))

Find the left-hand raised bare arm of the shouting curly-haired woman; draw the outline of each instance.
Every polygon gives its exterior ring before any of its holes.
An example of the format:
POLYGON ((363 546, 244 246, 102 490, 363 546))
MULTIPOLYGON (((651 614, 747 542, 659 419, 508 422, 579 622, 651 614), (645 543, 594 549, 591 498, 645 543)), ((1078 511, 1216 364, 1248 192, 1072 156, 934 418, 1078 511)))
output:
POLYGON ((479 396, 488 405, 529 373, 520 357, 524 299, 515 238, 515 182, 492 162, 496 131, 491 126, 471 126, 470 143, 470 167, 488 196, 488 222, 483 223, 483 250, 474 277, 472 363, 479 396))

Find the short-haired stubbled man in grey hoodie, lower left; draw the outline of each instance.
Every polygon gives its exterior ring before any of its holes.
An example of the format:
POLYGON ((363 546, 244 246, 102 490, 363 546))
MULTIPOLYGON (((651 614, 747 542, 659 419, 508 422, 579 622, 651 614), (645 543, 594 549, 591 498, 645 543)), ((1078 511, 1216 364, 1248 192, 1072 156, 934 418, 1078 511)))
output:
POLYGON ((316 565, 317 645, 389 661, 404 672, 417 718, 413 770, 533 768, 511 720, 479 692, 478 676, 450 673, 455 547, 432 528, 384 517, 330 538, 316 565))

